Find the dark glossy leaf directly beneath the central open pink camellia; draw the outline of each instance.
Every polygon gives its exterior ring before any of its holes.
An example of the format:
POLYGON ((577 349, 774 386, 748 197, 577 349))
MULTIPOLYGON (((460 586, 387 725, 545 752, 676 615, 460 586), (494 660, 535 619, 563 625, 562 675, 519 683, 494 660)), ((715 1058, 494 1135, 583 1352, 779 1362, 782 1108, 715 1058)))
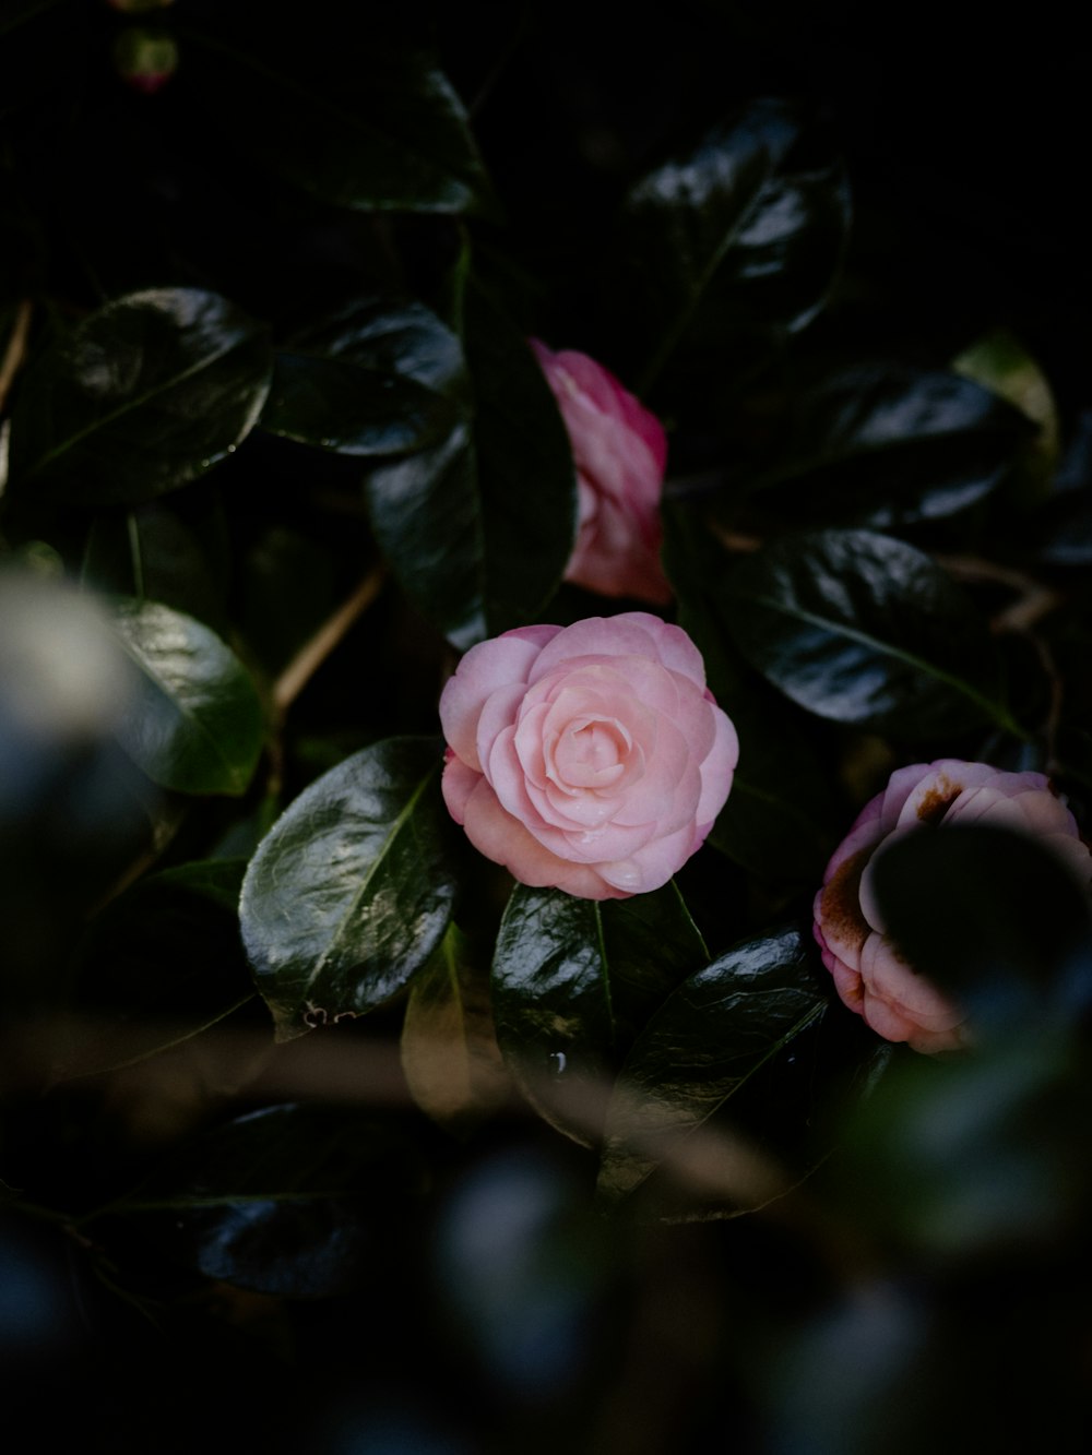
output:
POLYGON ((706 957, 674 885, 603 904, 518 885, 496 937, 494 1018, 539 1113, 591 1145, 626 1048, 706 957))

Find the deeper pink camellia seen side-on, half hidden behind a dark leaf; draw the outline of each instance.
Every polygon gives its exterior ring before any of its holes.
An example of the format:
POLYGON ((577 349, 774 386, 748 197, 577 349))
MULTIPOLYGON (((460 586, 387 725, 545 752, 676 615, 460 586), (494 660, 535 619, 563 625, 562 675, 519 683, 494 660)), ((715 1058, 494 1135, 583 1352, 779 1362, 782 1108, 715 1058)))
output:
POLYGON ((587 354, 530 340, 569 432, 579 521, 565 579, 603 597, 671 599, 660 565, 667 436, 629 390, 587 354))

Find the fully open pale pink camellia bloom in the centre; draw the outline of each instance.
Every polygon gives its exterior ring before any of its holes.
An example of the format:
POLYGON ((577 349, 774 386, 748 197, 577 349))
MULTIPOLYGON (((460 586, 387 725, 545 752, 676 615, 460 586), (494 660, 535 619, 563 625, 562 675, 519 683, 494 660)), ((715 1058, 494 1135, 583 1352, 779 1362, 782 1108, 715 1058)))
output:
POLYGON ((740 754, 681 627, 645 611, 472 646, 440 697, 444 802, 524 885, 658 889, 700 848, 740 754))

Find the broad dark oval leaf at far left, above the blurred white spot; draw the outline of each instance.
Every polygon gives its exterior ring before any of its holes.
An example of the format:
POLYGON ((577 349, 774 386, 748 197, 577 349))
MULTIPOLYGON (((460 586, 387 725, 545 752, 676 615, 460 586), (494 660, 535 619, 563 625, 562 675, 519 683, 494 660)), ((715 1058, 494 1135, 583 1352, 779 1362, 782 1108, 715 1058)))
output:
POLYGON ((269 388, 264 324, 198 288, 115 298, 32 364, 12 487, 80 505, 153 499, 246 438, 269 388))

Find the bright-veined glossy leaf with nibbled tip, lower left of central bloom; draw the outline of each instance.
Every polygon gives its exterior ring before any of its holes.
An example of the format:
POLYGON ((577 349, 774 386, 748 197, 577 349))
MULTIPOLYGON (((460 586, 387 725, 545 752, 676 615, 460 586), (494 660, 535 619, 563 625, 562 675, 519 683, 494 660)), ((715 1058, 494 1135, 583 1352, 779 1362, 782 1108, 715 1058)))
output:
POLYGON ((390 738, 287 808, 243 882, 243 943, 278 1040, 361 1016, 400 991, 443 938, 454 876, 441 745, 390 738))

